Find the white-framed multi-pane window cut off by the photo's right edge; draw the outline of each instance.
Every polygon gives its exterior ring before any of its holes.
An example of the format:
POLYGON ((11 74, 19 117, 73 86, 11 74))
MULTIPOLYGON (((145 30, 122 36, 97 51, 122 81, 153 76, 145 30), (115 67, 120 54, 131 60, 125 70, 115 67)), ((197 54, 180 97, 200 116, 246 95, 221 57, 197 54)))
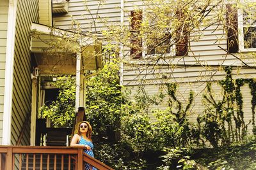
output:
POLYGON ((239 46, 242 51, 256 50, 256 3, 238 10, 239 46))

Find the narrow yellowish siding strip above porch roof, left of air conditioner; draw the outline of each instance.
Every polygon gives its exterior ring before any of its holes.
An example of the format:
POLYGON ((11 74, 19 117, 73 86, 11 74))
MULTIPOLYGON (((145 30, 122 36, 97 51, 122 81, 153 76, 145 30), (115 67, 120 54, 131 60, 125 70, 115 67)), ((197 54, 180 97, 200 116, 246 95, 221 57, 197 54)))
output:
POLYGON ((52 26, 51 0, 39 0, 39 23, 52 26))

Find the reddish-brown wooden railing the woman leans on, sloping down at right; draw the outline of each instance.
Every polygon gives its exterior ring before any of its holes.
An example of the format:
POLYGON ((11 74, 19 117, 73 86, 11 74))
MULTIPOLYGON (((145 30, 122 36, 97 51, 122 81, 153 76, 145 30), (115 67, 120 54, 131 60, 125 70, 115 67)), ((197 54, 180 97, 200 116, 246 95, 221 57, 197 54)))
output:
POLYGON ((88 163, 99 170, 112 170, 83 153, 83 148, 65 146, 0 146, 0 169, 83 170, 88 163))

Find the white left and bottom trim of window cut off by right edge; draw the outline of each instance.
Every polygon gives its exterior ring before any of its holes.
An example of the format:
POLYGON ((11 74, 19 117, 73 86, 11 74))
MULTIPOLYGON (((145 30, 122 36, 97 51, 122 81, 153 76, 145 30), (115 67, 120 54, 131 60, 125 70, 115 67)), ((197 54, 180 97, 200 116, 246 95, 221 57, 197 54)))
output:
MULTIPOLYGON (((252 1, 256 2, 256 1, 252 1)), ((256 48, 244 48, 243 10, 237 10, 238 40, 240 52, 255 52, 256 48)))

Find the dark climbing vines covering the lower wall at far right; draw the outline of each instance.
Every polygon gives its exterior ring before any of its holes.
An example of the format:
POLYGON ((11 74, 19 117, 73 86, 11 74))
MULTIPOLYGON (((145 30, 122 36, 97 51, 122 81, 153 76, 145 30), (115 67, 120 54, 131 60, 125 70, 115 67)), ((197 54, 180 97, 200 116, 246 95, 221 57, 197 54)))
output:
POLYGON ((248 124, 252 122, 255 133, 255 107, 256 107, 256 83, 255 79, 233 80, 231 67, 225 67, 225 80, 218 81, 223 89, 223 98, 216 101, 212 96, 211 83, 207 83, 206 92, 203 95, 205 111, 198 117, 198 124, 204 122, 203 135, 212 146, 228 145, 230 142, 241 141, 247 133, 248 124), (244 122, 243 95, 241 87, 248 83, 252 95, 252 121, 244 122), (236 114, 235 114, 236 113, 236 114), (235 124, 233 124, 234 122, 235 124), (226 125, 227 124, 227 125, 226 125), (235 125, 235 127, 234 127, 235 125))

